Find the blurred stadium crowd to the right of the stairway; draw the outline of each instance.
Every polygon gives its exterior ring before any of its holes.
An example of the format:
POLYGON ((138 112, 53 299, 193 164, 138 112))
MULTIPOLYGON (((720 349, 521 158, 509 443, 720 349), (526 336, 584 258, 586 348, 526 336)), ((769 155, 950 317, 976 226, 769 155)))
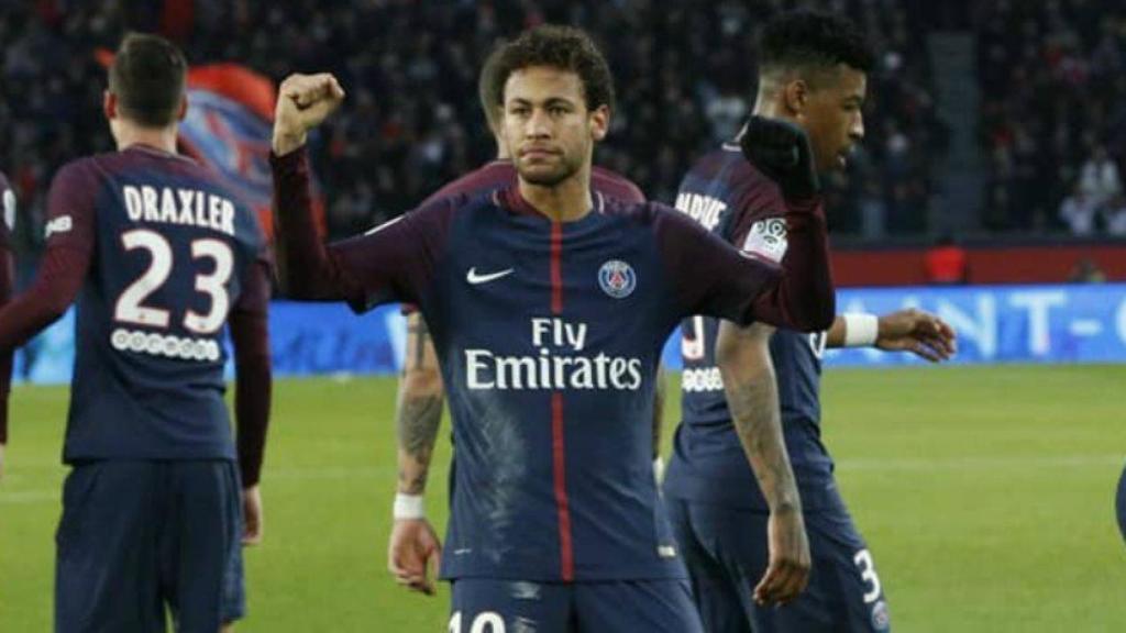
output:
POLYGON ((1126 235, 1126 5, 977 7, 993 230, 1126 235))

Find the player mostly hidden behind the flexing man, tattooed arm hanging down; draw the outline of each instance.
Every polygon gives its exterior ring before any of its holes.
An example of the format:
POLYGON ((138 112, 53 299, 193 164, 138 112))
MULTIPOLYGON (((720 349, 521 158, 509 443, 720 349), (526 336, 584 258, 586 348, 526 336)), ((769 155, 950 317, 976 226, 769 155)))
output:
MULTIPOLYGON (((501 108, 493 102, 497 93, 497 61, 500 48, 493 51, 481 68, 477 97, 485 113, 489 131, 497 142, 497 159, 457 180, 446 185, 421 206, 453 196, 479 196, 516 184, 516 167, 501 136, 501 108)), ((626 178, 597 166, 590 172, 591 189, 598 195, 629 203, 644 203, 641 189, 626 178)), ((399 429, 399 489, 394 503, 394 527, 387 546, 387 568, 396 581, 412 590, 434 594, 429 570, 441 554, 441 544, 434 527, 426 519, 423 492, 430 470, 445 390, 438 369, 438 356, 426 321, 414 306, 404 306, 406 314, 406 355, 395 417, 399 429)), ((653 407, 653 458, 659 470, 658 451, 661 442, 661 417, 664 404, 664 380, 659 376, 653 407)))

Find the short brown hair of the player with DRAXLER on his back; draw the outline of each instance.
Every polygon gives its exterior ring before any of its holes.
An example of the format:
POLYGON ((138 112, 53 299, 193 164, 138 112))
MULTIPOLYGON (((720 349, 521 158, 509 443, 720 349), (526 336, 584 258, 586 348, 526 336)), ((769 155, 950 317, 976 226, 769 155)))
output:
POLYGON ((126 118, 146 127, 164 127, 179 113, 187 72, 184 53, 171 42, 131 33, 109 66, 109 91, 117 96, 117 107, 126 118))

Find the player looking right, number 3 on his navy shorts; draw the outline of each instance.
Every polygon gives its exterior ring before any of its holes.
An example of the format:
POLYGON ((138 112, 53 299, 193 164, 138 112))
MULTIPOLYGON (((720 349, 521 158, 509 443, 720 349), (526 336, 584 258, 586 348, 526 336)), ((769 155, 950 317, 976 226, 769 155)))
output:
MULTIPOLYGON (((797 125, 808 134, 816 168, 839 169, 864 135, 872 65, 872 53, 848 20, 780 16, 765 27, 751 125, 761 117, 797 125)), ((748 164, 740 142, 745 151, 757 141, 744 132, 700 159, 685 177, 677 206, 745 251, 781 259, 793 248, 785 199, 807 191, 795 193, 784 176, 748 164)), ((826 346, 874 345, 940 360, 954 351, 954 332, 915 310, 879 318, 844 314, 816 333, 692 316, 682 332, 683 420, 664 496, 705 628, 886 630, 879 579, 821 443, 821 356, 826 346), (761 439, 783 434, 781 451, 761 439), (799 500, 779 488, 789 475, 787 454, 799 500), (803 523, 813 559, 810 585, 792 603, 767 608, 756 599, 757 583, 779 552, 805 546, 803 523)))

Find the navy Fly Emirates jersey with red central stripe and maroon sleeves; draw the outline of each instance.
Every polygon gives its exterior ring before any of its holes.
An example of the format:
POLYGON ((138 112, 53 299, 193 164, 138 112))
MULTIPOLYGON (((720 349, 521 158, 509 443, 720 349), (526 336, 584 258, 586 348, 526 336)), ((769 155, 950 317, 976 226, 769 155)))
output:
MULTIPOLYGON (((831 319, 822 259, 780 279, 661 205, 596 195, 561 223, 516 189, 445 198, 325 248, 306 230, 304 152, 272 168, 289 292, 357 311, 408 301, 430 328, 457 446, 444 577, 683 577, 651 465, 663 342, 688 314, 831 319)), ((820 211, 795 215, 792 239, 821 252, 820 211)))

